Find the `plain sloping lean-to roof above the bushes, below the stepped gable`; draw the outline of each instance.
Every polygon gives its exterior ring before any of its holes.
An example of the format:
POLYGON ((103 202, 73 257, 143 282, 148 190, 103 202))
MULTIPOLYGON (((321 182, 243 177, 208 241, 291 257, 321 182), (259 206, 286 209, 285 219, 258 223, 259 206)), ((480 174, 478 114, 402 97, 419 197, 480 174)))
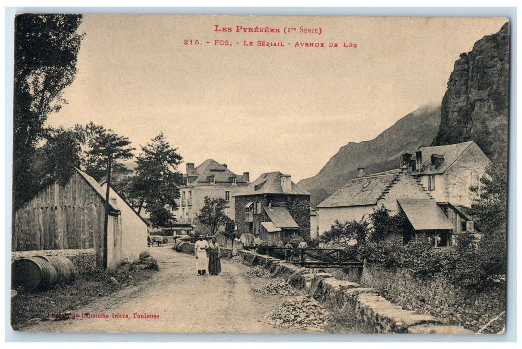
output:
POLYGON ((455 229, 434 200, 397 199, 414 230, 455 229))

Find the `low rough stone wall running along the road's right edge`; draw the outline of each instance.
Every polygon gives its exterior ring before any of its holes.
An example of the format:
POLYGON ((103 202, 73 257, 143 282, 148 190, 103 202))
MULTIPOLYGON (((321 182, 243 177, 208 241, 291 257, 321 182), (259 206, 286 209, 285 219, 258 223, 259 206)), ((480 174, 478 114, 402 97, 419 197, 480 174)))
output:
POLYGON ((383 333, 473 333, 461 326, 448 326, 431 315, 419 314, 395 305, 373 288, 343 281, 329 273, 313 273, 310 269, 286 263, 274 257, 247 250, 238 254, 246 261, 269 269, 291 285, 307 290, 315 299, 335 304, 340 311, 355 311, 383 333))

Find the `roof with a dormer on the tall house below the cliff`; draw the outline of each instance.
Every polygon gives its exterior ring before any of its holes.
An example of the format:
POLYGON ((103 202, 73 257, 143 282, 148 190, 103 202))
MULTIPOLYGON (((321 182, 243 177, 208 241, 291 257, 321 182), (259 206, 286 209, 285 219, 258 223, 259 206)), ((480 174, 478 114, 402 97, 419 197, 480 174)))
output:
POLYGON ((446 146, 434 146, 434 147, 420 147, 418 150, 422 151, 422 171, 413 171, 412 176, 426 175, 426 174, 439 174, 447 170, 447 168, 453 164, 460 155, 473 143, 472 140, 462 143, 449 144, 446 146), (431 154, 444 155, 444 160, 435 169, 435 166, 430 169, 431 154))

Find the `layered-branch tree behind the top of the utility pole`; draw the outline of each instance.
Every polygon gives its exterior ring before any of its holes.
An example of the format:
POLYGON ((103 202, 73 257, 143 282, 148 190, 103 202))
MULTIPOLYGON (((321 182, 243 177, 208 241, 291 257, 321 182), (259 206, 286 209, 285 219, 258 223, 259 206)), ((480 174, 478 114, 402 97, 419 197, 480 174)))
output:
POLYGON ((75 130, 81 135, 81 167, 98 182, 106 177, 107 160, 112 154, 111 179, 114 185, 118 179, 132 173, 125 164, 117 162, 122 159, 131 159, 135 148, 131 147, 131 140, 117 135, 111 129, 93 122, 83 126, 76 125, 75 130))

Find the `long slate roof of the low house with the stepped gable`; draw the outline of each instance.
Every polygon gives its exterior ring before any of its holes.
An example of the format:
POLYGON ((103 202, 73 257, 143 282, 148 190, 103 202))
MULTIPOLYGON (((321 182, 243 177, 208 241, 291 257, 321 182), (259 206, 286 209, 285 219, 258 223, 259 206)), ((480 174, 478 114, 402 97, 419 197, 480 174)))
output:
POLYGON ((395 169, 353 178, 318 204, 317 208, 375 205, 384 192, 399 180, 400 173, 400 169, 395 169))

